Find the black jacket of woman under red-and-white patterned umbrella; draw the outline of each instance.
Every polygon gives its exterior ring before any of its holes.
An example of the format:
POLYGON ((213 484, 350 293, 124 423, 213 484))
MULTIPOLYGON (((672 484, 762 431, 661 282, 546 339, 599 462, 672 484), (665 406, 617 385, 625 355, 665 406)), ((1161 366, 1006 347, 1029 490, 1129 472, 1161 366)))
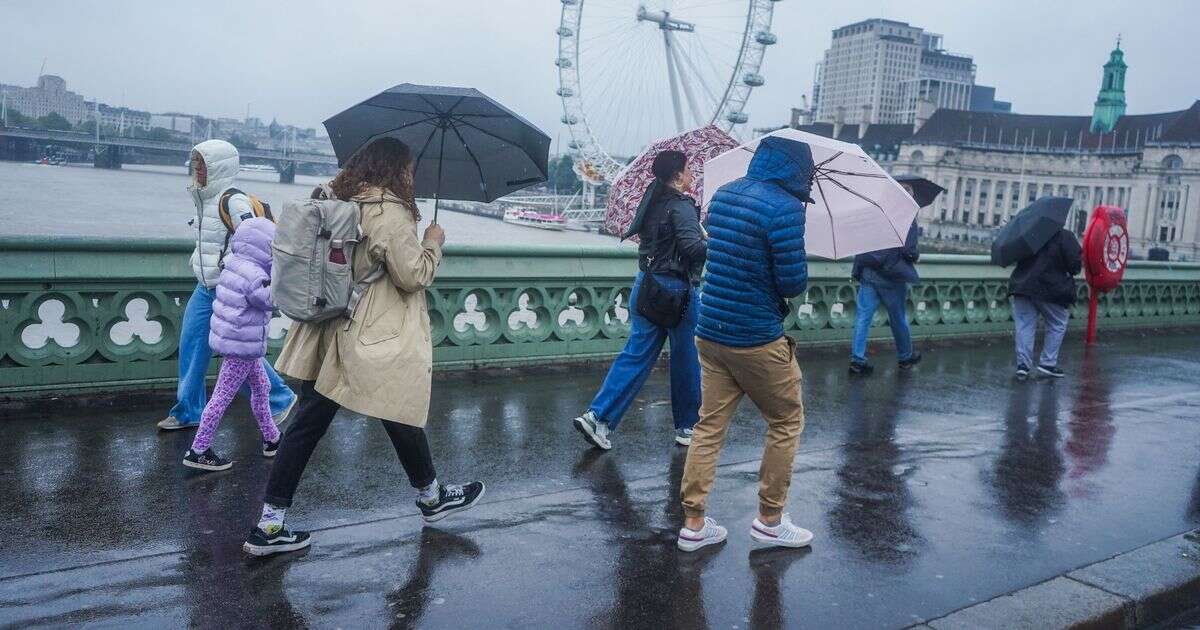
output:
POLYGON ((700 208, 674 188, 653 184, 625 236, 637 234, 637 268, 700 282, 708 240, 700 227, 700 208))

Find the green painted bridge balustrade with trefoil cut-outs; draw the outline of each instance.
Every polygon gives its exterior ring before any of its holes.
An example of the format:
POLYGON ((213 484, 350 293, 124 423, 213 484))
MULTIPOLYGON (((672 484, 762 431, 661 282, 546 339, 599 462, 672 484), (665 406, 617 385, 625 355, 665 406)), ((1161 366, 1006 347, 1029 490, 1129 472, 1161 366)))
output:
MULTIPOLYGON (((191 241, 0 236, 0 396, 170 386, 196 281, 191 241)), ((439 368, 611 356, 629 334, 630 247, 451 246, 428 289, 439 368)), ((910 292, 918 340, 1012 330, 1008 270, 926 256, 910 292)), ((802 344, 847 344, 848 263, 812 262, 785 326, 802 344)), ((1073 325, 1086 317, 1086 289, 1073 325)), ((887 317, 872 338, 889 338, 887 317)), ((1200 324, 1200 264, 1135 262, 1103 296, 1102 329, 1200 324)), ((278 352, 288 322, 271 324, 278 352)), ((215 372, 217 361, 212 362, 215 372)))

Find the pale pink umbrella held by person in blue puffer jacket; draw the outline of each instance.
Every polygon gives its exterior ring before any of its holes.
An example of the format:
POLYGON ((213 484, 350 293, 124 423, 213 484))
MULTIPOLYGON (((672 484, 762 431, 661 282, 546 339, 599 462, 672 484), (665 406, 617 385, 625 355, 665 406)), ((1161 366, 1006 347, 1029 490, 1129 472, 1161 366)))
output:
MULTIPOLYGON (((814 203, 808 205, 804 229, 809 256, 838 259, 904 246, 919 208, 862 148, 791 128, 768 136, 805 143, 812 151, 814 203)), ((746 174, 755 149, 768 136, 704 166, 704 209, 716 188, 746 174)))

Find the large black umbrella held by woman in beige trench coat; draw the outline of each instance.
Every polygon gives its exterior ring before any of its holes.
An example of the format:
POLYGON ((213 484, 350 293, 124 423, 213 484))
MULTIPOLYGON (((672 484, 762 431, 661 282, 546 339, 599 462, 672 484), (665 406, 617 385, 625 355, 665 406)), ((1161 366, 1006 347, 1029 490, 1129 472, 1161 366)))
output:
POLYGON ((344 166, 377 138, 413 151, 413 193, 437 200, 492 202, 546 181, 550 136, 470 88, 404 83, 325 121, 344 166))

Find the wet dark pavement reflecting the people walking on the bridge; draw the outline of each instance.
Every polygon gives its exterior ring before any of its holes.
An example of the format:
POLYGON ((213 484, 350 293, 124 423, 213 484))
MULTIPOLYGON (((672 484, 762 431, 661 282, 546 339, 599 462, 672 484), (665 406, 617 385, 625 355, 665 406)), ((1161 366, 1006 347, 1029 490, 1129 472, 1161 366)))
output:
MULTIPOLYGON (((1068 378, 1013 383, 1010 348, 802 352, 808 427, 790 509, 810 551, 758 548, 764 425, 743 403, 710 502, 724 546, 676 551, 684 450, 665 372, 587 449, 569 419, 604 366, 443 374, 430 437, 444 481, 484 503, 421 529, 377 422, 340 418, 288 512, 314 546, 240 551, 270 462, 248 406, 216 445, 227 473, 179 464, 167 406, 7 418, 0 439, 0 626, 888 628, 1045 581, 1200 523, 1200 337, 1111 337, 1068 378)), ((0 408, 0 413, 5 413, 0 408)), ((13 415, 8 413, 7 415, 13 415)))

